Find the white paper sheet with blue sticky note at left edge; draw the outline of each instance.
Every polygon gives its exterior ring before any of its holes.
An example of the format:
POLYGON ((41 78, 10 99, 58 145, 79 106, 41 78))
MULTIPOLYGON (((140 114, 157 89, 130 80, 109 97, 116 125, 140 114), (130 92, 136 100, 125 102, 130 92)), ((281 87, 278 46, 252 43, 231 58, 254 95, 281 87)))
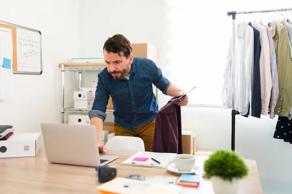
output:
POLYGON ((10 99, 13 96, 12 64, 12 31, 0 27, 0 99, 10 99))

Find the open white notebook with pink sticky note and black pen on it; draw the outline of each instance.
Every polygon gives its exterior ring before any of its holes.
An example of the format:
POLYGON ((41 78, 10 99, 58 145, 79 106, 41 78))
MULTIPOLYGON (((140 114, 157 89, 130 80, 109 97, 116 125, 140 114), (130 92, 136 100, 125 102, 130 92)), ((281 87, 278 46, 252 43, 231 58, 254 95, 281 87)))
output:
POLYGON ((173 157, 177 155, 176 153, 159 153, 159 152, 146 152, 138 151, 136 154, 132 155, 126 161, 122 162, 121 165, 132 165, 132 166, 146 166, 154 168, 165 168, 173 157), (160 162, 157 163, 154 160, 160 162))

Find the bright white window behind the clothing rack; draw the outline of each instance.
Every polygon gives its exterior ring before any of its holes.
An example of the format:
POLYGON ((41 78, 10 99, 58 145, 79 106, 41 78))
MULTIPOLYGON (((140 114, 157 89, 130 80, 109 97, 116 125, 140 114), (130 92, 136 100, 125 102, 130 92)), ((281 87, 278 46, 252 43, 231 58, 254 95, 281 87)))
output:
MULTIPOLYGON (((280 0, 281 1, 281 0, 280 0)), ((232 35, 232 18, 228 11, 272 9, 289 6, 287 2, 273 7, 274 1, 232 0, 165 0, 165 75, 185 91, 197 86, 189 96, 190 105, 222 107, 223 74, 229 41, 232 35), (263 3, 265 2, 265 3, 263 3)), ((274 13, 273 18, 281 16, 274 13)), ((284 14, 288 14, 283 12, 284 14)), ((292 17, 292 13, 289 14, 292 17)), ((263 19, 272 14, 237 15, 236 23, 263 19)))

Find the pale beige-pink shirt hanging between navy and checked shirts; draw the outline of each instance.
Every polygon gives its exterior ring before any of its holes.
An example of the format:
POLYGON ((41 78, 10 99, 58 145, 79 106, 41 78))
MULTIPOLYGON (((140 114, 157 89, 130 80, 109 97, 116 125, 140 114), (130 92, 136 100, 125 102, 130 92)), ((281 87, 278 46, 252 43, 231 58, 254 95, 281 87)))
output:
POLYGON ((271 74, 271 57, 270 43, 266 28, 256 21, 253 22, 253 27, 259 31, 259 40, 261 45, 260 51, 260 89, 261 89, 261 114, 268 115, 269 104, 272 90, 272 74, 271 74))

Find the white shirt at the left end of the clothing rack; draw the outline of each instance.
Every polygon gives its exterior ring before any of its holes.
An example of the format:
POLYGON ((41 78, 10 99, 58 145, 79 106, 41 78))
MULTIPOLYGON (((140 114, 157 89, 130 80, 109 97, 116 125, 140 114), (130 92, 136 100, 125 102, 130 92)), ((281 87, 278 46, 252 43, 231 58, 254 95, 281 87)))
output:
MULTIPOLYGON (((231 46, 231 45, 230 45, 231 46)), ((250 106, 251 73, 254 65, 254 32, 253 28, 245 22, 237 24, 235 53, 235 110, 240 115, 246 115, 250 106)), ((227 63, 224 71, 224 84, 222 92, 223 108, 232 108, 232 53, 229 48, 227 63)))

